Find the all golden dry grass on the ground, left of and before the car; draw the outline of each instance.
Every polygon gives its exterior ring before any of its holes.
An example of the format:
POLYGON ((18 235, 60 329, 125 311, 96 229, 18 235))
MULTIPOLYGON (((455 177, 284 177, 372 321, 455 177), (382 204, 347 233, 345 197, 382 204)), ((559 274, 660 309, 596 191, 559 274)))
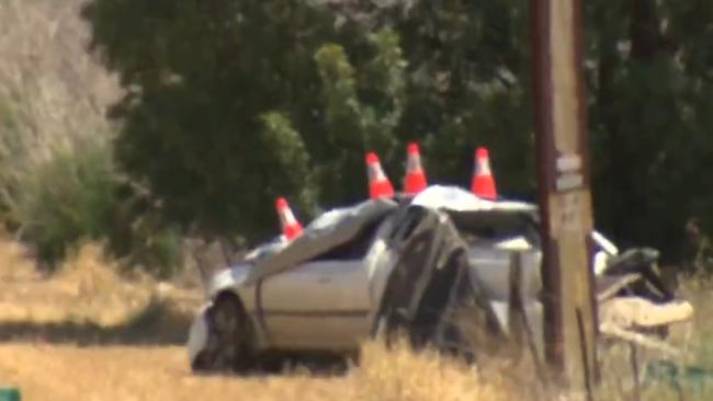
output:
MULTIPOLYGON (((111 330, 121 323, 131 324, 158 296, 170 300, 168 308, 172 309, 181 305, 195 309, 200 298, 190 290, 157 285, 146 277, 128 280, 116 273, 116 266, 97 244, 80 248, 48 277, 36 274, 23 248, 12 241, 0 241, 0 261, 2 326, 8 330, 24 324, 29 326, 24 334, 33 328, 36 331, 36 335, 22 335, 0 345, 0 385, 20 387, 26 399, 189 400, 244 399, 247 394, 254 400, 512 399, 502 376, 486 378, 435 353, 414 354, 403 344, 391 352, 377 343, 365 344, 361 366, 347 374, 316 377, 297 369, 238 379, 190 374, 181 346, 101 342, 80 346, 86 341, 81 331, 73 342, 70 335, 75 332, 69 332, 69 337, 63 332, 58 341, 56 333, 46 330, 47 324, 90 322, 111 330), (160 295, 158 288, 162 289, 160 295)), ((163 308, 158 312, 171 311, 163 308)), ((165 319, 163 323, 163 330, 180 331, 179 337, 186 332, 185 320, 165 319)), ((155 326, 139 329, 142 336, 156 331, 155 326)), ((132 342, 118 342, 122 340, 132 342)))

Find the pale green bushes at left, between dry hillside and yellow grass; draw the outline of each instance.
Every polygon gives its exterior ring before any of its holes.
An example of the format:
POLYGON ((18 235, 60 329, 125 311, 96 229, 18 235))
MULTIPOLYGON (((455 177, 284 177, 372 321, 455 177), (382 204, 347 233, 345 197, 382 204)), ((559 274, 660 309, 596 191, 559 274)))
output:
POLYGON ((5 186, 5 219, 45 268, 54 270, 69 249, 93 240, 128 264, 169 276, 181 263, 180 237, 162 227, 154 210, 136 207, 140 202, 104 138, 88 136, 44 163, 19 169, 5 186))

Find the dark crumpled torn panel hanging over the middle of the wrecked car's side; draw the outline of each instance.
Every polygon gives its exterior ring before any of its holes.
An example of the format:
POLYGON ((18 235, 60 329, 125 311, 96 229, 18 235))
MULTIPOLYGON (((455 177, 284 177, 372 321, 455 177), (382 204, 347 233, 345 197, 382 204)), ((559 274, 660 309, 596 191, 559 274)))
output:
MULTIPOLYGON (((406 330, 416 346, 432 343, 471 356, 497 348, 503 328, 483 282, 473 278, 462 231, 444 211, 415 205, 406 210, 417 218, 398 247, 381 314, 392 330, 406 330)), ((501 252, 508 260, 507 251, 501 252)))

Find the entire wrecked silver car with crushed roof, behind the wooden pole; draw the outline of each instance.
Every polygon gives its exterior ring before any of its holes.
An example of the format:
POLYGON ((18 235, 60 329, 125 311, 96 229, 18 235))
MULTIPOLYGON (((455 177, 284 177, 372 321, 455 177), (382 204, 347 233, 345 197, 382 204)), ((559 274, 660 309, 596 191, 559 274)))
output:
MULTIPOLYGON (((620 255, 600 233, 591 239, 598 301, 674 300, 652 276, 657 255, 620 255)), ((189 333, 191 366, 241 371, 269 351, 350 353, 399 332, 415 346, 477 358, 509 335, 513 299, 542 355, 541 263, 529 203, 434 185, 408 199, 335 209, 212 278, 189 333)))

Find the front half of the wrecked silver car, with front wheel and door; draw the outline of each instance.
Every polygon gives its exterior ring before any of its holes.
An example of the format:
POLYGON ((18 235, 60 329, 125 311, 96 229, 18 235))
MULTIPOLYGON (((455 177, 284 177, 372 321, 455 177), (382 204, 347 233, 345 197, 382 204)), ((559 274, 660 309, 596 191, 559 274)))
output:
POLYGON ((195 370, 250 368, 267 350, 346 352, 367 337, 396 250, 398 205, 370 199, 331 210, 216 274, 189 335, 195 370))

